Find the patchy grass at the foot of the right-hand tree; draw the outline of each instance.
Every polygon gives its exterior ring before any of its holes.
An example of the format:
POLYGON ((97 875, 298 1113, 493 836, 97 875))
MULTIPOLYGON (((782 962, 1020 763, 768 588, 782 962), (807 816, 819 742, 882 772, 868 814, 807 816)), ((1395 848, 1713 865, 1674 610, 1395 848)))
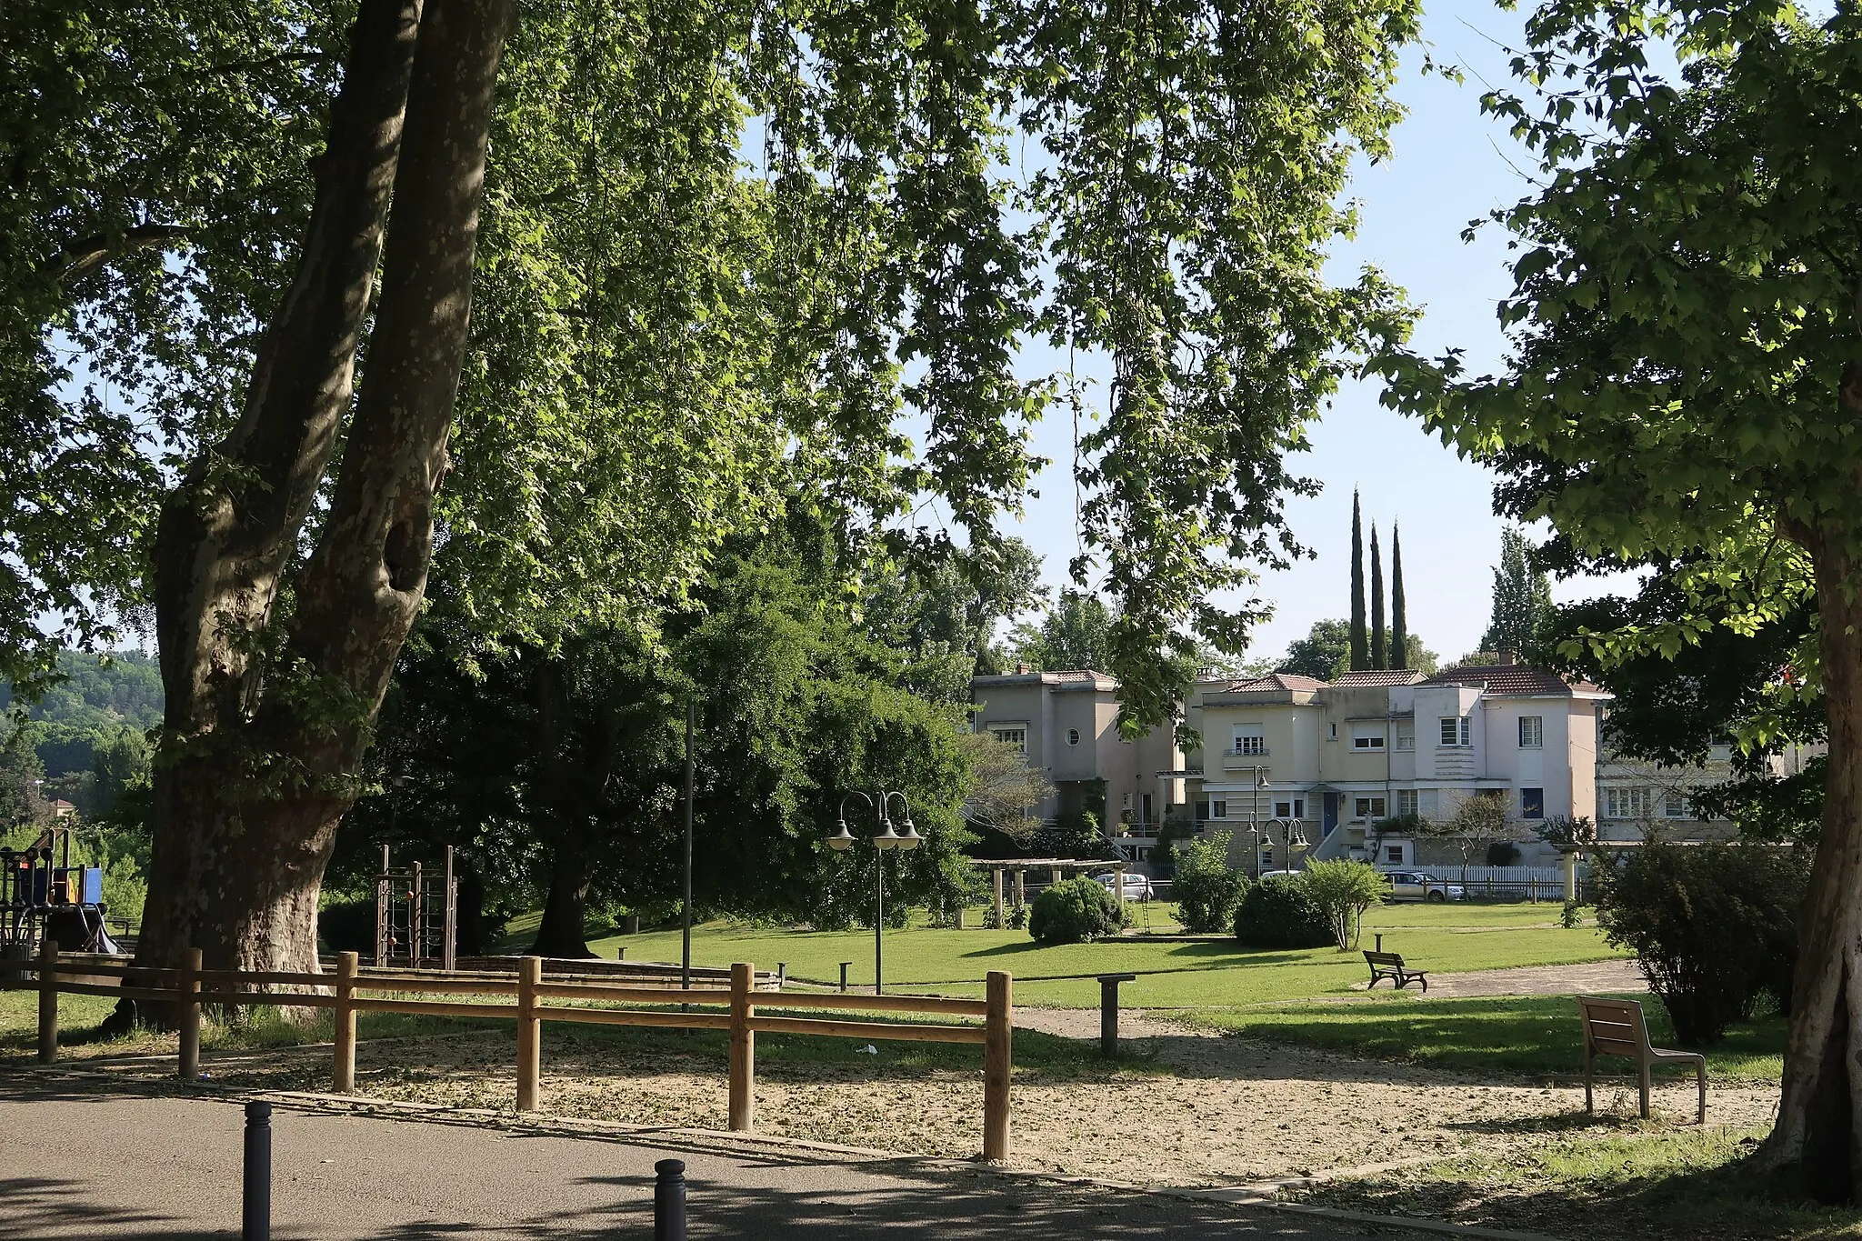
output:
POLYGON ((1460 1157, 1289 1196, 1558 1237, 1810 1241, 1862 1235, 1862 1211, 1819 1208, 1750 1167, 1763 1129, 1551 1118, 1504 1157, 1460 1157))

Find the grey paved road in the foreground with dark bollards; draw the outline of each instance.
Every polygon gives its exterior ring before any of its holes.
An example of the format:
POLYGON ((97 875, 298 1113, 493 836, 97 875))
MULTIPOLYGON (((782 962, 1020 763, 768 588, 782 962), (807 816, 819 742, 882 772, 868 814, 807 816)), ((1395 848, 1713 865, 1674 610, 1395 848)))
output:
MULTIPOLYGON (((806 1152, 693 1152, 678 1142, 536 1137, 467 1124, 274 1113, 272 1235, 652 1235, 652 1165, 687 1161, 698 1241, 1354 1241, 1352 1224, 985 1170, 806 1152)), ((0 1239, 238 1235, 236 1103, 0 1079, 0 1239)), ((1391 1235, 1387 1232, 1378 1235, 1391 1235)), ((1413 1235, 1413 1234, 1404 1234, 1413 1235)))

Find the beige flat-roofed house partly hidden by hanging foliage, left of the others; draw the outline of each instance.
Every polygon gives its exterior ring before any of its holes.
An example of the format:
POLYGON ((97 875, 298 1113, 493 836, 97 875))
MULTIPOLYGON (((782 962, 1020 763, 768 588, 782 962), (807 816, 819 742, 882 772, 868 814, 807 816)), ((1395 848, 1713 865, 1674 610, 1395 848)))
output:
POLYGON ((1128 832, 1138 860, 1166 815, 1182 815, 1182 750, 1177 722, 1166 720, 1138 741, 1119 737, 1119 683, 1102 672, 1015 672, 970 681, 976 731, 1019 746, 1028 765, 1054 785, 1035 813, 1043 819, 1095 809, 1100 822, 1128 832), (1164 772, 1160 778, 1158 772, 1164 772), (1104 781, 1104 783, 1100 783, 1104 781))

